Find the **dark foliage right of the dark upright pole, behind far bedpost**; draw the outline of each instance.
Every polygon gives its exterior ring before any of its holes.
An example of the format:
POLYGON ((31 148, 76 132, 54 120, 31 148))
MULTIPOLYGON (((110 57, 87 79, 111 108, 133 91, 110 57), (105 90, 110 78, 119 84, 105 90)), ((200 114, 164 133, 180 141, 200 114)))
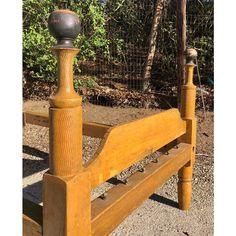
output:
POLYGON ((214 78, 213 1, 191 0, 187 7, 188 46, 197 49, 202 82, 206 82, 214 78))

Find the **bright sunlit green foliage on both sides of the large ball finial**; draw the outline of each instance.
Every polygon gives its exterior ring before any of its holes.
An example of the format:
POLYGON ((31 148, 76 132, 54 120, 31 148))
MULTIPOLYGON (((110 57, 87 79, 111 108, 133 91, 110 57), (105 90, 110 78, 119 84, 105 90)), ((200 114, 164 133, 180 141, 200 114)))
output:
MULTIPOLYGON (((51 0, 23 0, 23 69, 24 74, 30 77, 50 81, 56 78, 56 59, 50 53, 55 40, 49 35, 47 19, 58 8, 58 4, 51 0)), ((71 2, 69 7, 77 12, 82 22, 89 22, 89 28, 74 42, 81 50, 75 62, 94 59, 97 49, 108 54, 109 40, 106 39, 103 5, 96 0, 83 0, 71 2)), ((78 63, 75 72, 79 72, 78 63)))

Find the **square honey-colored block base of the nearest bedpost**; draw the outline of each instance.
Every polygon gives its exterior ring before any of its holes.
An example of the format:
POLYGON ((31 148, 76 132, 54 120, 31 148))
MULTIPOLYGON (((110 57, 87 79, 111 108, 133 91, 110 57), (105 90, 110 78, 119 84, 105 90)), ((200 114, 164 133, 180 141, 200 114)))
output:
POLYGON ((73 177, 45 174, 43 235, 91 235, 89 173, 73 177))

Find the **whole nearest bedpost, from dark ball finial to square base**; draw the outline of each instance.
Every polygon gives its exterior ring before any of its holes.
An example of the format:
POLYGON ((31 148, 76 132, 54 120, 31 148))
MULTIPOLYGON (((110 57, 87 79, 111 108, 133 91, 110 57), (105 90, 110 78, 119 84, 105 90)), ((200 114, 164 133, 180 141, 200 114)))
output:
POLYGON ((49 172, 43 177, 43 235, 91 234, 90 179, 82 163, 82 98, 73 87, 72 41, 81 30, 78 16, 55 10, 48 28, 57 45, 58 89, 49 99, 49 172))

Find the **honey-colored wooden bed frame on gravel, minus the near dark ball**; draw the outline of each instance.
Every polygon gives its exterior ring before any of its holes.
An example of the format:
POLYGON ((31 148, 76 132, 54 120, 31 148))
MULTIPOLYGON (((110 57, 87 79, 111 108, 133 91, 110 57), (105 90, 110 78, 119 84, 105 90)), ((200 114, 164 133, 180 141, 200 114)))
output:
MULTIPOLYGON (((196 118, 193 60, 187 50, 181 108, 109 126, 82 121, 82 98, 73 88, 73 57, 78 49, 57 46, 58 90, 48 114, 24 112, 25 124, 49 127, 49 171, 43 176, 43 206, 23 200, 23 235, 108 235, 134 209, 178 172, 179 208, 191 202, 196 118), (82 164, 82 135, 101 138, 92 160, 82 164), (91 189, 169 143, 175 146, 91 202, 91 189)), ((173 146, 173 145, 172 145, 173 146)))

